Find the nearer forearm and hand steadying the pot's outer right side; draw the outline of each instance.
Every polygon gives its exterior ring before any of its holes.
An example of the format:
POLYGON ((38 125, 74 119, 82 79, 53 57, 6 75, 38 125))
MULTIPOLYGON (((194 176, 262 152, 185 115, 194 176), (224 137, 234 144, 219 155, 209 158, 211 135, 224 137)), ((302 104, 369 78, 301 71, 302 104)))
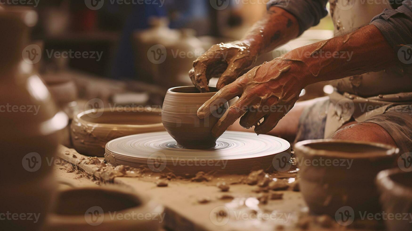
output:
POLYGON ((218 106, 213 105, 215 102, 240 96, 213 127, 213 134, 219 136, 243 114, 240 121, 243 127, 254 125, 257 134, 265 134, 293 107, 307 85, 380 71, 395 64, 391 46, 379 29, 368 25, 353 33, 297 48, 253 68, 222 88, 199 108, 197 115, 204 118, 211 113, 211 106, 218 106), (259 123, 262 118, 264 121, 259 123))

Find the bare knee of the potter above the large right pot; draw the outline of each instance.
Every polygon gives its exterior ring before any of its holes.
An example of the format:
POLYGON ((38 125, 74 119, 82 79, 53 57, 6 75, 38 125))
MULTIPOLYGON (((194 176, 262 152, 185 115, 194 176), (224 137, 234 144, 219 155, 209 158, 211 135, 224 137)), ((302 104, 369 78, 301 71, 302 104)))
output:
POLYGON ((391 135, 375 123, 356 123, 337 130, 330 139, 369 141, 397 146, 391 135))

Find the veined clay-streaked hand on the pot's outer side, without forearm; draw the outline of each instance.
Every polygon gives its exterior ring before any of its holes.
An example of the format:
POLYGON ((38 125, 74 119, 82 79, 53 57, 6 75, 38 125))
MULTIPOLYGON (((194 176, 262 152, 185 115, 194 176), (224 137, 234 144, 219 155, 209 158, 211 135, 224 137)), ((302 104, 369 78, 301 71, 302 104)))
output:
POLYGON ((257 134, 272 130, 278 121, 293 107, 304 85, 294 74, 288 73, 290 61, 274 59, 262 64, 223 87, 199 108, 199 118, 207 117, 226 101, 239 96, 213 127, 215 137, 220 136, 241 115, 245 128, 255 125, 257 134), (259 121, 264 118, 264 121, 259 121))

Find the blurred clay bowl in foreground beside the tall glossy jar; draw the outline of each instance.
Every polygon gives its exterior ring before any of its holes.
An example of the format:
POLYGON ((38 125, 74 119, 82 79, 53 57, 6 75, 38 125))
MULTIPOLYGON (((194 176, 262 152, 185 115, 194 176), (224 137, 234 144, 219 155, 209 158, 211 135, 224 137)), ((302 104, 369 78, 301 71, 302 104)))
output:
POLYGON ((161 217, 161 205, 125 189, 75 188, 58 193, 44 230, 157 231, 162 226, 161 217))

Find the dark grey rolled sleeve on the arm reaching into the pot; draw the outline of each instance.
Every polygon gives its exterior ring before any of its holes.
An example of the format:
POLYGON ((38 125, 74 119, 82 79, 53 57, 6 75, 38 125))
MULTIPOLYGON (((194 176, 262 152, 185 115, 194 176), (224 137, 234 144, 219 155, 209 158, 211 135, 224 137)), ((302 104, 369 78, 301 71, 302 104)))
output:
POLYGON ((316 26, 321 18, 328 15, 328 0, 270 0, 267 9, 272 6, 281 7, 296 17, 299 24, 299 35, 311 26, 316 26))

